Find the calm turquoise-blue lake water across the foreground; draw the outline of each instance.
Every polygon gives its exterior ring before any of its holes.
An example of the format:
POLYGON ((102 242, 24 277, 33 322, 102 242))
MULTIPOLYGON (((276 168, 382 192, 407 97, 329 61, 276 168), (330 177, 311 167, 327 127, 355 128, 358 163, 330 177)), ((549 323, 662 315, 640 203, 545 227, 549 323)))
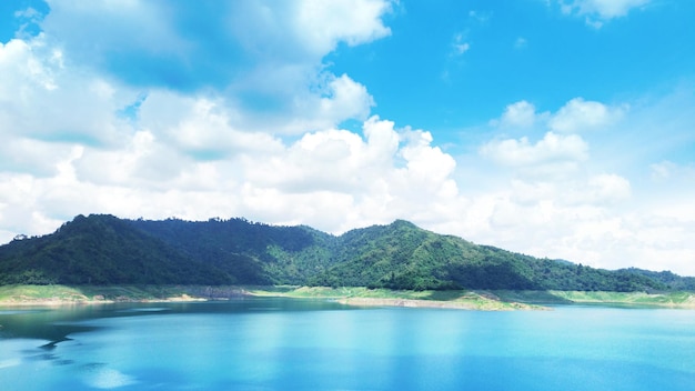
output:
POLYGON ((2 390, 695 390, 695 311, 0 309, 2 390))

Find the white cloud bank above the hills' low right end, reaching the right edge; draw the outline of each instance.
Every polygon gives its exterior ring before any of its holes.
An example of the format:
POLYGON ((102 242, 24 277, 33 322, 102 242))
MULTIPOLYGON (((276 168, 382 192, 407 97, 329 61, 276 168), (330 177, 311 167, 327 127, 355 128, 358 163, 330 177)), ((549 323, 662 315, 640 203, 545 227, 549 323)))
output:
POLYGON ((528 101, 510 104, 490 121, 497 136, 479 150, 482 160, 466 159, 479 172, 459 172, 466 210, 475 211, 460 212, 461 222, 442 229, 594 267, 693 275, 695 244, 686 239, 695 228, 695 169, 685 147, 693 140, 689 106, 692 89, 641 102, 638 110, 581 98, 555 112, 538 113, 528 101), (587 130, 602 131, 580 136, 587 130), (513 131, 527 136, 505 134, 513 131))

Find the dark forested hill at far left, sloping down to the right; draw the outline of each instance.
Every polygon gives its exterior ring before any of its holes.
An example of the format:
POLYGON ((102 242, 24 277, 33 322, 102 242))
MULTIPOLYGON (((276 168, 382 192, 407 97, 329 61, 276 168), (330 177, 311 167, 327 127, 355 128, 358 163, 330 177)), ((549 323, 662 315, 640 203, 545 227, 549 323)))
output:
POLYGON ((52 234, 0 247, 0 283, 232 283, 111 215, 83 215, 52 234))

